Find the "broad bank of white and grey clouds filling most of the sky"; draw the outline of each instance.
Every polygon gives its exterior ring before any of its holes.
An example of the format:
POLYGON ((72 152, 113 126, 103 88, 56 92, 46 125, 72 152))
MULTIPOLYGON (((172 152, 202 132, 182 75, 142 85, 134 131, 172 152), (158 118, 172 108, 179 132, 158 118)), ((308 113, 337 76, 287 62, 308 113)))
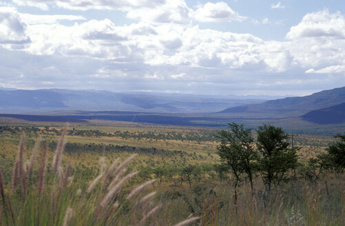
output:
MULTIPOLYGON (((80 8, 106 3, 64 2, 80 8)), ((252 34, 196 25, 196 21, 244 19, 223 2, 206 3, 195 10, 182 0, 107 4, 128 10, 127 17, 138 21, 116 25, 110 19, 0 10, 0 85, 222 94, 253 88, 255 92, 284 92, 303 84, 336 85, 345 79, 339 74, 345 65, 345 19, 339 12, 306 14, 285 41, 265 41, 252 34), (337 79, 325 81, 334 73, 337 79)))

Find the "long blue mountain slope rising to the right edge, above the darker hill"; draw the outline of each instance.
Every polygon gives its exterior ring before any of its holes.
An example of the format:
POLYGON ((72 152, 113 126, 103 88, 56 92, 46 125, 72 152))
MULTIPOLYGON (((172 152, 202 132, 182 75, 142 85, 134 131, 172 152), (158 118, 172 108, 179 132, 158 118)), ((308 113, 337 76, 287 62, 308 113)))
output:
POLYGON ((243 117, 271 117, 274 119, 301 116, 313 110, 339 105, 345 101, 345 87, 324 90, 309 96, 287 97, 264 103, 229 107, 219 113, 243 117))

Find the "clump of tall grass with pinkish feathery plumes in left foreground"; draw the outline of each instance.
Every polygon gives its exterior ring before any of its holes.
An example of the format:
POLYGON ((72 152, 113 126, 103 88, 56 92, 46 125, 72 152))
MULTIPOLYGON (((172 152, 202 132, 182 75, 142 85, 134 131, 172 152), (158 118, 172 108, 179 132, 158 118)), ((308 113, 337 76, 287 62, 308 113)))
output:
POLYGON ((63 170, 61 161, 66 130, 65 127, 54 152, 52 168, 46 165, 48 145, 45 145, 37 172, 33 170, 36 162, 34 159, 39 154, 38 143, 41 141, 36 142, 30 156, 28 172, 24 172, 25 136, 22 136, 14 164, 12 184, 4 181, 0 169, 0 225, 157 225, 159 218, 154 215, 162 204, 154 201, 156 192, 151 192, 143 198, 140 198, 139 194, 144 194, 143 191, 155 180, 132 186, 133 189, 127 187, 128 181, 138 174, 127 173, 125 169, 135 155, 125 159, 116 169, 118 159, 109 169, 105 169, 105 165, 101 164, 101 174, 88 186, 80 179, 78 183, 68 183, 74 169, 72 164, 68 163, 63 170), (110 183, 105 181, 107 187, 103 189, 100 181, 107 174, 110 183), (30 183, 25 184, 26 178, 32 178, 30 183), (21 189, 17 184, 19 179, 21 189), (37 183, 32 183, 33 181, 37 183), (138 196, 137 200, 135 196, 138 196))

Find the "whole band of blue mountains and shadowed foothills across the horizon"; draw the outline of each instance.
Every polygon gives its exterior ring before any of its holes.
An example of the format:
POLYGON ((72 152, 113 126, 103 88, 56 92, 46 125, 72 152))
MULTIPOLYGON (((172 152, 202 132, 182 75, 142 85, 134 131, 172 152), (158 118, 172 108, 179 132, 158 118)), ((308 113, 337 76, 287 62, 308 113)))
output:
POLYGON ((280 119, 343 123, 345 87, 269 101, 244 99, 243 96, 99 90, 0 90, 0 114, 7 118, 12 114, 16 119, 29 121, 103 119, 168 125, 222 126, 229 121, 262 123, 280 119), (40 118, 37 115, 59 117, 40 118))

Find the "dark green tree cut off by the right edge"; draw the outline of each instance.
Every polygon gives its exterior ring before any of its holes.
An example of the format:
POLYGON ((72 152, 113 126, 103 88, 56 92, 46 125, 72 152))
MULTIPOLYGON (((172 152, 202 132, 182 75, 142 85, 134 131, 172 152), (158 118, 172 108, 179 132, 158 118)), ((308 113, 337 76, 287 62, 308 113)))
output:
POLYGON ((335 138, 340 138, 340 141, 330 145, 327 152, 335 171, 342 173, 345 168, 345 134, 337 134, 335 138))

